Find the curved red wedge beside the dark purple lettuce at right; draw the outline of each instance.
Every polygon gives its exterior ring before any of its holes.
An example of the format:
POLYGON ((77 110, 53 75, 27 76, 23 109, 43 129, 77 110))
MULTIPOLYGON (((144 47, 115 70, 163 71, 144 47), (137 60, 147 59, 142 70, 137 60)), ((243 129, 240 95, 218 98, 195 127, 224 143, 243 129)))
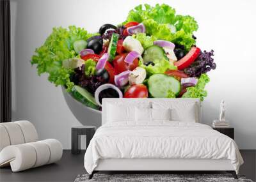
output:
POLYGON ((177 66, 179 70, 184 70, 185 68, 188 68, 188 66, 192 64, 199 56, 200 51, 201 50, 198 47, 192 47, 189 50, 188 54, 182 57, 179 61, 176 61, 174 65, 177 66))

